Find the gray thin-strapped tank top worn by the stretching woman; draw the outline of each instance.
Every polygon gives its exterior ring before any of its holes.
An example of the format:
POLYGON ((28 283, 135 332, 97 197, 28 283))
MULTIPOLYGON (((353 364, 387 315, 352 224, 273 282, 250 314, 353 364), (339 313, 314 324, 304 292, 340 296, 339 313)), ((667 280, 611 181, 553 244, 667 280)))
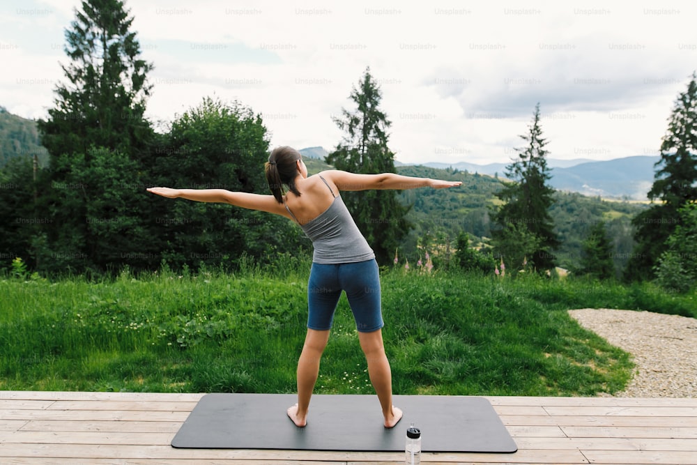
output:
MULTIPOLYGON (((375 253, 360 234, 360 229, 348 212, 344 199, 340 195, 334 195, 325 178, 319 178, 329 188, 334 201, 319 216, 300 224, 300 228, 314 247, 312 261, 316 264, 342 264, 374 259, 375 253)), ((287 205, 285 207, 293 220, 298 222, 291 209, 287 205)))

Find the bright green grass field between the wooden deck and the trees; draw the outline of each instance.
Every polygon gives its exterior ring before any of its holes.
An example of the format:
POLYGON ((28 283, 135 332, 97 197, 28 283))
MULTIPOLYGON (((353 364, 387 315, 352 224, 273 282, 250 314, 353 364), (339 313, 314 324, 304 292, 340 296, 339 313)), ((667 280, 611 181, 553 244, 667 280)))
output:
MULTIPOLYGON (((111 280, 0 280, 0 390, 295 392, 309 264, 235 274, 167 269, 111 280)), ((581 307, 696 317, 695 296, 650 284, 386 269, 385 347, 396 394, 597 395, 627 353, 581 328, 581 307)), ((373 393, 342 297, 317 393, 373 393)))

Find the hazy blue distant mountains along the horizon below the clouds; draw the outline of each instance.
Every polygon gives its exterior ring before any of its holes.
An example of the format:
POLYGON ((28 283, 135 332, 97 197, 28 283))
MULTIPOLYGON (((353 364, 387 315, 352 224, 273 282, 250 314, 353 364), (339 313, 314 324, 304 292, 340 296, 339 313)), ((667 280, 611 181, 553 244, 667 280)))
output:
MULTIPOLYGON (((323 160, 328 152, 322 147, 308 147, 300 150, 303 156, 323 160)), ((613 160, 574 160, 547 159, 551 179, 549 185, 564 192, 579 192, 593 197, 608 199, 646 200, 654 181, 655 164, 659 155, 636 155, 613 160)), ((470 162, 444 163, 401 163, 395 166, 422 165, 431 168, 452 168, 470 173, 485 174, 505 178, 506 166, 510 163, 489 163, 477 165, 470 162)))

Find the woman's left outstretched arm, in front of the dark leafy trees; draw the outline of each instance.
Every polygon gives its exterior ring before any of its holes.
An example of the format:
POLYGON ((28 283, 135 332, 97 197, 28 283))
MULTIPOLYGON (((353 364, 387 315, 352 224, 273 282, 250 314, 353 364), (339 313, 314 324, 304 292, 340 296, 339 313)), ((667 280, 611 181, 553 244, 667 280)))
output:
POLYGON ((251 194, 250 192, 230 192, 224 189, 171 189, 148 188, 148 192, 169 199, 187 199, 202 202, 217 202, 230 204, 250 210, 275 213, 286 218, 291 218, 288 211, 279 204, 273 195, 251 194))

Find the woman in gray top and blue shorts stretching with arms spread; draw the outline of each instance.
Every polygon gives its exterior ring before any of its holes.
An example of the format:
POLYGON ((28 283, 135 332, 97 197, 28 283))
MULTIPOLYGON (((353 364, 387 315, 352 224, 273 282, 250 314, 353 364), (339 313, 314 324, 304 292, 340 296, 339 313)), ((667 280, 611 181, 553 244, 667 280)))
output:
POLYGON ((298 360, 298 403, 287 415, 298 427, 307 425, 307 409, 319 374, 319 362, 329 340, 334 311, 342 291, 358 329, 368 374, 383 412, 384 426, 402 417, 392 405, 392 374, 383 346, 380 280, 375 254, 360 234, 339 192, 342 190, 450 188, 459 182, 385 174, 352 174, 328 170, 307 176, 298 151, 275 148, 265 165, 273 195, 229 192, 222 189, 149 188, 169 198, 222 202, 281 215, 298 223, 312 240, 314 253, 307 287, 308 317, 305 344, 298 360), (284 194, 283 186, 288 188, 284 194))

